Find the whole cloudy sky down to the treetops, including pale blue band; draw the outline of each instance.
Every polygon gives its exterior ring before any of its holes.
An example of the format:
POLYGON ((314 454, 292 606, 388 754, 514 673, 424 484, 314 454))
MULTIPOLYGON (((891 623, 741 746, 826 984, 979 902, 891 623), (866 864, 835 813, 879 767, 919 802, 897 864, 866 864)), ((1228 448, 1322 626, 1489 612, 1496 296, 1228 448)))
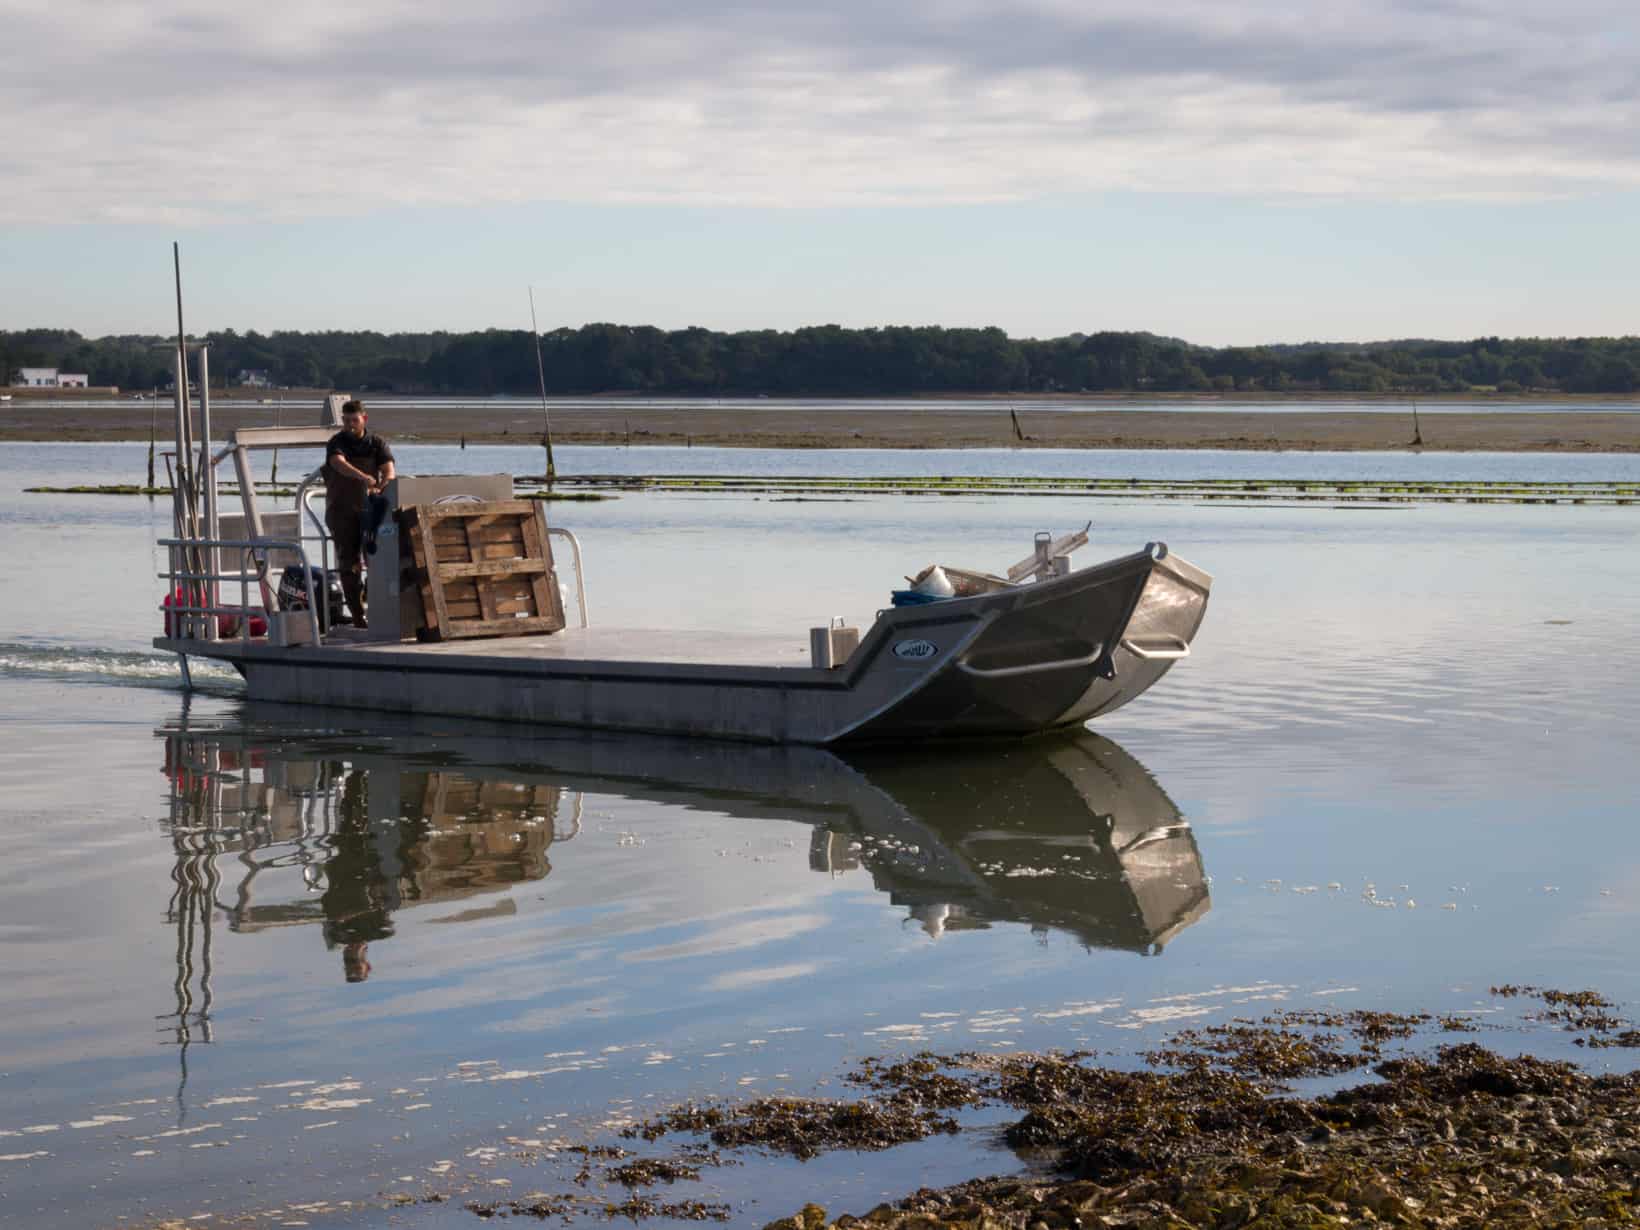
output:
POLYGON ((0 328, 1630 335, 1632 0, 0 0, 0 328))

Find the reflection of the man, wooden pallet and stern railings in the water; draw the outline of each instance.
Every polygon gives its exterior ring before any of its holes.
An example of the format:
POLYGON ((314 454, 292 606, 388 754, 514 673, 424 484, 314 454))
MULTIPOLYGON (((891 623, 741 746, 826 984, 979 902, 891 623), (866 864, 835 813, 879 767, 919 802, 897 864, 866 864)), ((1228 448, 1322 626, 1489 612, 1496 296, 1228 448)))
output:
POLYGON ((402 909, 489 897, 433 920, 513 913, 495 894, 544 879, 548 846, 581 828, 577 792, 510 771, 267 725, 162 733, 177 850, 167 918, 202 933, 213 913, 233 932, 321 923, 349 982, 369 977, 367 945, 402 909))

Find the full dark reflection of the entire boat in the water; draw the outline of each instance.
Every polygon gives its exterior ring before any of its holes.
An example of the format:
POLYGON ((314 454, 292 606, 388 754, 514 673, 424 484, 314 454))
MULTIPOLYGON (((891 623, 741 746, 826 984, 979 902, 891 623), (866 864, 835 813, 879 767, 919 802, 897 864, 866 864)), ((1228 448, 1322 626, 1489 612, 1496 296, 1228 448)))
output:
POLYGON ((179 1040, 208 1038, 213 920, 241 933, 320 927, 344 976, 362 981, 367 945, 394 933, 400 910, 440 907, 430 922, 512 913, 505 891, 551 872, 548 854, 581 831, 589 794, 805 823, 815 871, 869 874, 932 935, 1023 922, 1153 953, 1209 909, 1189 825, 1138 761, 1087 731, 845 758, 364 722, 315 728, 302 710, 253 704, 230 723, 161 731, 177 850, 169 918, 185 966, 179 1040))

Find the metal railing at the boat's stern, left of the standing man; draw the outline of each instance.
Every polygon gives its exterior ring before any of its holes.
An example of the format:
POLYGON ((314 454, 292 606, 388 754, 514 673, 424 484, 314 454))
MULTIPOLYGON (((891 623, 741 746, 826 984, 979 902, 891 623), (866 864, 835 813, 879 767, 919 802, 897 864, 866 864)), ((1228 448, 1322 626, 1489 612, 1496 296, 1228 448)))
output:
POLYGON ((313 569, 308 567, 307 551, 300 538, 161 538, 159 546, 166 548, 171 564, 157 576, 169 582, 161 610, 166 613, 166 635, 172 640, 220 641, 223 640, 220 618, 226 615, 238 618, 238 628, 230 633, 228 640, 236 636, 241 643, 249 643, 251 615, 254 613, 251 585, 254 584, 259 590, 261 610, 271 626, 272 618, 280 610, 267 579, 267 553, 290 551, 302 564, 302 587, 307 595, 312 643, 320 645, 318 597, 321 595, 313 590, 313 569), (239 571, 216 571, 223 551, 239 553, 239 571), (194 563, 194 559, 203 563, 194 563), (238 607, 218 602, 221 582, 239 584, 238 607))

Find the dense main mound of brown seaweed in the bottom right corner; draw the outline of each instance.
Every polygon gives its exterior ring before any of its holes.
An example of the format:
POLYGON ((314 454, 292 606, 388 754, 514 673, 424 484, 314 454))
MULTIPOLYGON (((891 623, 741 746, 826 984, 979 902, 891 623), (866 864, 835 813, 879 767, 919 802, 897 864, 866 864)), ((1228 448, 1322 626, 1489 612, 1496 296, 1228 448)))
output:
MULTIPOLYGON (((1219 1033, 1256 1056, 1291 1038, 1219 1033)), ((1337 1059, 1315 1053, 1325 1071, 1337 1059)), ((1381 1081, 1279 1097, 1215 1041, 1179 1071, 1066 1056, 974 1058, 1023 1114, 1010 1145, 1048 1176, 930 1189, 864 1217, 782 1230, 1640 1225, 1640 1077, 1506 1058, 1476 1045, 1397 1058, 1381 1081)), ((1258 1061, 1263 1066, 1263 1061, 1258 1061)), ((1286 1069, 1284 1063, 1278 1064, 1286 1069)), ((1353 1066, 1353 1064, 1351 1064, 1353 1066)), ((1286 1074, 1286 1071, 1282 1073, 1286 1074)), ((822 1214, 823 1215, 823 1214, 822 1214)))

